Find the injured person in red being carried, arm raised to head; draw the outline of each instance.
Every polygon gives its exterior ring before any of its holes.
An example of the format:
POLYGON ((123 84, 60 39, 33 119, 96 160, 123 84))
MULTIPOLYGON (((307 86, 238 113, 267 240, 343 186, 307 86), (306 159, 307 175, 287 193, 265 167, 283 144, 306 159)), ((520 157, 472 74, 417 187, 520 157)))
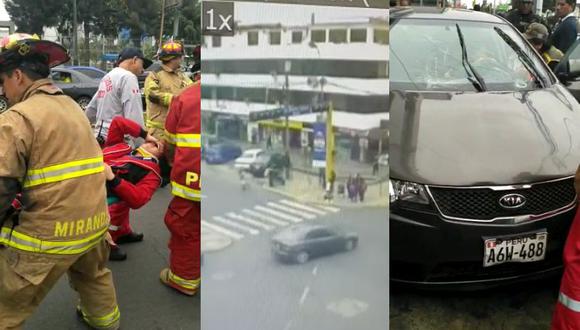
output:
POLYGON ((159 158, 163 145, 147 133, 138 123, 117 116, 111 122, 105 141, 103 156, 107 178, 107 202, 111 224, 109 260, 125 260, 127 255, 116 244, 140 242, 142 233, 136 233, 129 224, 130 209, 139 209, 151 200, 161 184, 159 158), (125 143, 125 134, 145 139, 133 150, 125 143))

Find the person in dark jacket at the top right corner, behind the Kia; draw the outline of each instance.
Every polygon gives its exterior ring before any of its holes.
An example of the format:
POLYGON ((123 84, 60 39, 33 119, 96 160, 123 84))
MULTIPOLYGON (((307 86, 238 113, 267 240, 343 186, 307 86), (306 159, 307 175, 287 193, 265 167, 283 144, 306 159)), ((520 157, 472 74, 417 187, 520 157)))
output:
POLYGON ((566 53, 578 35, 577 19, 574 16, 576 0, 557 0, 556 14, 560 18, 550 36, 554 47, 566 53))

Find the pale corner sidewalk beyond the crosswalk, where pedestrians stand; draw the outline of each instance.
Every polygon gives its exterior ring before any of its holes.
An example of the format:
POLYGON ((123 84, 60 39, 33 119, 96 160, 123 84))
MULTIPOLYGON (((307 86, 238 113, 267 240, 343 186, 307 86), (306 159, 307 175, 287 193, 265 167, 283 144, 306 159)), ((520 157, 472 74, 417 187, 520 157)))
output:
MULTIPOLYGON (((361 208, 361 207, 387 207, 388 206, 388 183, 386 180, 375 180, 368 183, 364 202, 352 202, 348 196, 338 196, 336 194, 336 185, 345 183, 345 179, 339 178, 335 184, 334 199, 331 202, 324 200, 324 190, 318 181, 318 176, 306 174, 304 172, 293 170, 290 174, 290 180, 285 185, 275 185, 269 187, 267 180, 259 180, 264 189, 297 199, 302 202, 317 203, 325 205, 334 205, 344 208, 361 208)), ((346 192, 345 192, 346 193, 346 192)))

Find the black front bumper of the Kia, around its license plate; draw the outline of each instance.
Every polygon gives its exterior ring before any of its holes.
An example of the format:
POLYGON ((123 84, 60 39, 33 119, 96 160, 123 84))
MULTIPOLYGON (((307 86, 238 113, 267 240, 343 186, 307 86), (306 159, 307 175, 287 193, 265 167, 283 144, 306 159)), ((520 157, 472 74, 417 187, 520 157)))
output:
POLYGON ((534 222, 493 225, 451 222, 439 214, 392 208, 391 281, 430 288, 491 287, 557 275, 576 208, 534 222), (483 267, 484 239, 548 231, 545 259, 483 267))

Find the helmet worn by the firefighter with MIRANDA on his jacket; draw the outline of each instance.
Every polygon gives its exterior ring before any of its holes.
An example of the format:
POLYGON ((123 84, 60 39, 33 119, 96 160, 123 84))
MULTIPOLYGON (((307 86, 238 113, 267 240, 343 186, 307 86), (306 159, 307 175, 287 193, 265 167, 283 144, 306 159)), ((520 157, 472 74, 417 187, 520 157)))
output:
POLYGON ((40 40, 36 34, 14 33, 0 39, 0 70, 15 67, 30 57, 50 68, 70 60, 63 46, 52 41, 40 40))

